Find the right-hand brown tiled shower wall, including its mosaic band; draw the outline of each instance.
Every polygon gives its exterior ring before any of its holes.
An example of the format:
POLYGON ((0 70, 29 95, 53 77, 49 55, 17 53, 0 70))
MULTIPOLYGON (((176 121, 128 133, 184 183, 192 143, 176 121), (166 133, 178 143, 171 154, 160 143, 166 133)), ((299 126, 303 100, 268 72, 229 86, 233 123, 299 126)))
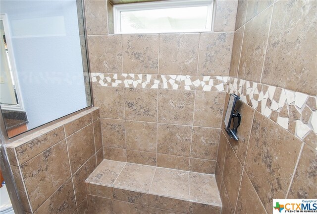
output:
POLYGON ((225 106, 238 94, 242 121, 238 142, 220 134, 222 213, 317 198, 316 13, 314 0, 239 0, 225 106))

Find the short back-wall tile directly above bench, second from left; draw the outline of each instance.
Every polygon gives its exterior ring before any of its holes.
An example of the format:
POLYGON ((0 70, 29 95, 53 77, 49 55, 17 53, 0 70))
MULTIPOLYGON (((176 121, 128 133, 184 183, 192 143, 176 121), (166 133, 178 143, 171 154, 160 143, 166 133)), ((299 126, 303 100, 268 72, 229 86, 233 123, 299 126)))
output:
POLYGON ((127 149, 127 162, 156 166, 157 153, 127 149))

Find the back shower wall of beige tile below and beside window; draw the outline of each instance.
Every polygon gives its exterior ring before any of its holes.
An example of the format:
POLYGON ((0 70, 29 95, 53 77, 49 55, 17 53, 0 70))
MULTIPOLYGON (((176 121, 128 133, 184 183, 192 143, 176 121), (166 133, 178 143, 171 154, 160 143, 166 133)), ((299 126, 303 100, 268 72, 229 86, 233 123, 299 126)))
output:
POLYGON ((85 1, 106 159, 214 173, 237 3, 217 1, 213 32, 114 35, 111 4, 85 1))

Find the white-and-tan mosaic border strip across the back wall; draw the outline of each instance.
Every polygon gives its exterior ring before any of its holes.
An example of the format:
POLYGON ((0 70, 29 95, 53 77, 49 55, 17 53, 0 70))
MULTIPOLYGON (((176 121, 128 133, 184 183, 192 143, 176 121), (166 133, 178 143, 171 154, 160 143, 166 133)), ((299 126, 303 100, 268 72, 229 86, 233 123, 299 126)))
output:
POLYGON ((225 91, 228 76, 92 73, 92 84, 112 87, 225 91))

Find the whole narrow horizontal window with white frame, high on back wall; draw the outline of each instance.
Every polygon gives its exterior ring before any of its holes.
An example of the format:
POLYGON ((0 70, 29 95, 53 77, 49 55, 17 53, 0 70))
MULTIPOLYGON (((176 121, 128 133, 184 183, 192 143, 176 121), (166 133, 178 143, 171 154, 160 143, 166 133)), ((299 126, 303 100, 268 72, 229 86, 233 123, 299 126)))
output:
POLYGON ((114 5, 114 33, 211 31, 212 5, 213 0, 114 5))

